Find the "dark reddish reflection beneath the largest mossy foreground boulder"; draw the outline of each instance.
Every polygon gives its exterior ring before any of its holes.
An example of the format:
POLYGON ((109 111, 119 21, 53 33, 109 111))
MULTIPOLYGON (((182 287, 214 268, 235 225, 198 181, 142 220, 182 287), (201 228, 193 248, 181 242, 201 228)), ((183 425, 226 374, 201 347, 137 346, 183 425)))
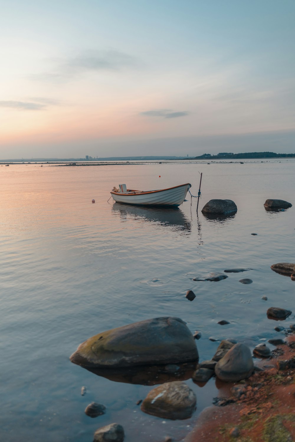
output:
POLYGON ((168 364, 153 366, 115 368, 87 368, 97 376, 105 377, 110 381, 137 385, 157 385, 172 381, 190 379, 196 369, 198 361, 184 364, 168 364))

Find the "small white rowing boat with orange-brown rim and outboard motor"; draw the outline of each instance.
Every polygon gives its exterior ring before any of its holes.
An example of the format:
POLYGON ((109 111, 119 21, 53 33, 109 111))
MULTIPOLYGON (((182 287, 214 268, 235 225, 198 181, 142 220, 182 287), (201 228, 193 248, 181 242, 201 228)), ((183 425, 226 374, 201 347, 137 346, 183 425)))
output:
POLYGON ((190 183, 169 187, 157 191, 134 191, 126 189, 126 184, 120 184, 119 189, 111 191, 116 202, 136 204, 138 206, 180 206, 184 202, 190 183))

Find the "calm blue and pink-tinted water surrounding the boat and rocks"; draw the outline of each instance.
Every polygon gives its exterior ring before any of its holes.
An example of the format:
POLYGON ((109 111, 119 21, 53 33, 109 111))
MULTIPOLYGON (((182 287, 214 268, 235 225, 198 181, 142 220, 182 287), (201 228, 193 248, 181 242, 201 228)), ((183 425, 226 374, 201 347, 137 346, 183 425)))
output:
POLYGON ((200 360, 218 346, 210 336, 251 348, 278 336, 266 310, 295 312, 295 282, 270 266, 295 262, 295 207, 273 213, 263 204, 267 198, 295 204, 294 166, 295 160, 245 160, 0 168, 1 439, 86 442, 111 422, 123 424, 130 442, 167 434, 181 439, 216 396, 213 379, 204 387, 186 381, 197 395, 192 419, 163 422, 136 405, 152 387, 96 376, 71 364, 69 355, 100 331, 157 316, 180 316, 192 332, 202 331, 200 360), (197 216, 189 194, 178 210, 107 202, 119 183, 149 189, 190 182, 197 194, 198 171, 200 208, 211 198, 228 198, 238 206, 235 215, 197 216), (219 282, 191 279, 230 267, 252 270, 219 282), (241 278, 253 283, 241 284, 241 278), (192 302, 184 297, 189 289, 196 294, 192 302), (264 294, 268 301, 261 300, 264 294), (230 324, 217 324, 222 319, 230 324), (92 401, 107 413, 84 415, 92 401))

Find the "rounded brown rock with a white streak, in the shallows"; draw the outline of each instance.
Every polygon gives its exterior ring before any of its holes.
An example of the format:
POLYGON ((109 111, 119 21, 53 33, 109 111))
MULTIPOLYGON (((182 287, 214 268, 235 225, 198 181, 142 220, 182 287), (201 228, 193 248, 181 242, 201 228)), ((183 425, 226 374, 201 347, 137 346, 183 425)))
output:
POLYGON ((195 404, 195 393, 184 382, 175 381, 151 390, 141 409, 164 419, 188 419, 195 411, 195 404))

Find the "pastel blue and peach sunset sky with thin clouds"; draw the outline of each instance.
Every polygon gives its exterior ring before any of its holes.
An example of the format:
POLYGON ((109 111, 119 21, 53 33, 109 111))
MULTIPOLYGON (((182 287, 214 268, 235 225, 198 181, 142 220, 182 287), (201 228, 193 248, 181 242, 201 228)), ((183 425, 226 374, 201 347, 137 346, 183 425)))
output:
POLYGON ((0 11, 0 159, 295 152, 294 0, 0 11))

